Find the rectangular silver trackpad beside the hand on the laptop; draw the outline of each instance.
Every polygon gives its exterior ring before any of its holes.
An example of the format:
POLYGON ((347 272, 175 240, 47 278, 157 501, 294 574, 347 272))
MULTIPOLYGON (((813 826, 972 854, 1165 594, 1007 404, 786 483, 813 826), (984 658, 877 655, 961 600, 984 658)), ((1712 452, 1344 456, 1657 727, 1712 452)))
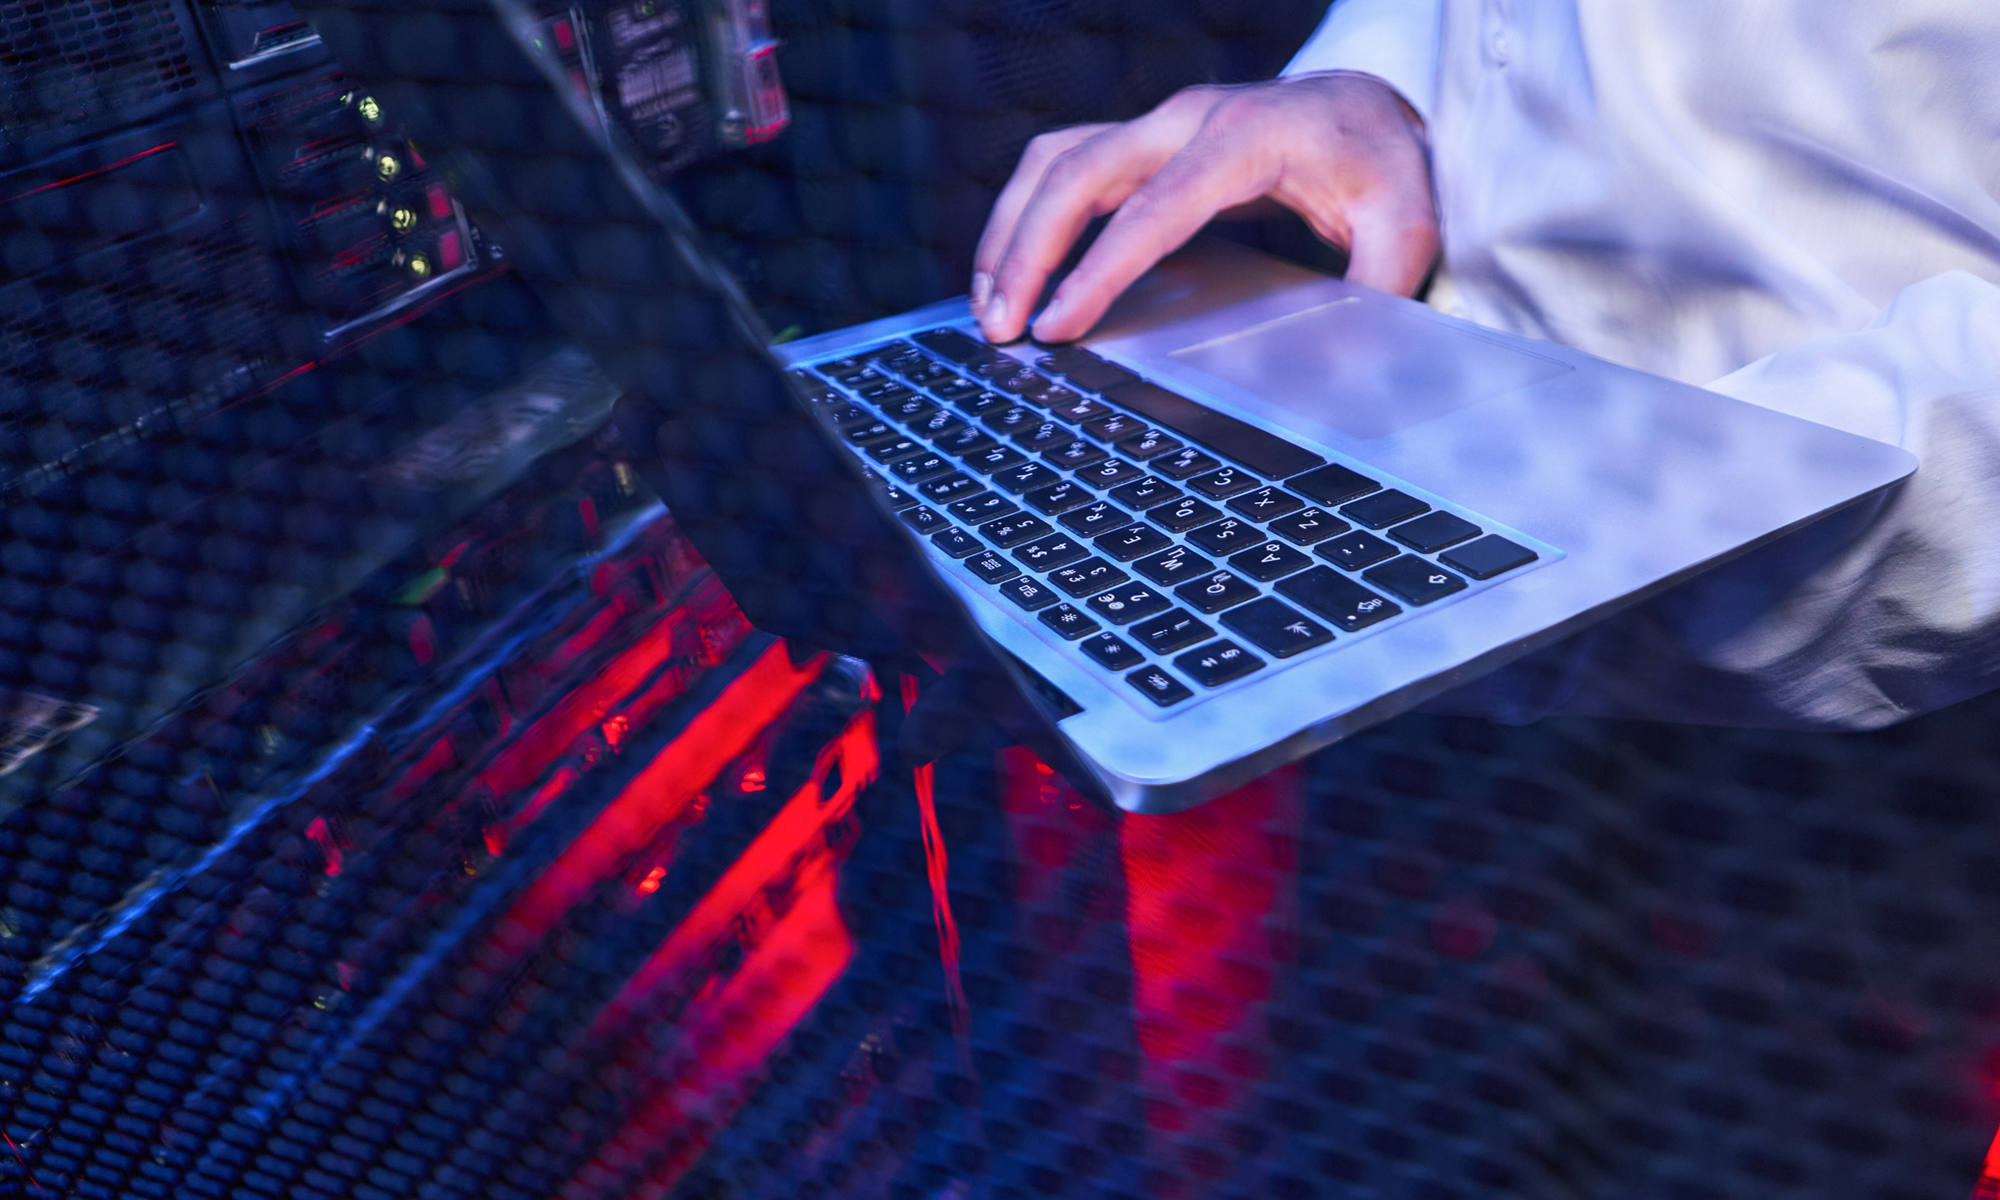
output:
POLYGON ((1334 300, 1170 354, 1350 436, 1384 438, 1570 366, 1400 304, 1334 300))

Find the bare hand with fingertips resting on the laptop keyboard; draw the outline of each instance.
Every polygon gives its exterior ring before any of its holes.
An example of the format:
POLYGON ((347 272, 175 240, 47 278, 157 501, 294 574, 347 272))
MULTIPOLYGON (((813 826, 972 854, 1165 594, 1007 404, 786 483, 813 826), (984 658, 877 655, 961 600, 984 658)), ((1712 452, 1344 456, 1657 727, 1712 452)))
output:
POLYGON ((1270 198, 1348 250, 1348 280, 1408 296, 1438 256, 1418 116, 1374 76, 1324 72, 1186 88, 1124 124, 1028 142, 974 254, 972 314, 1012 342, 1084 226, 1114 216, 1034 322, 1080 338, 1218 212, 1270 198))

